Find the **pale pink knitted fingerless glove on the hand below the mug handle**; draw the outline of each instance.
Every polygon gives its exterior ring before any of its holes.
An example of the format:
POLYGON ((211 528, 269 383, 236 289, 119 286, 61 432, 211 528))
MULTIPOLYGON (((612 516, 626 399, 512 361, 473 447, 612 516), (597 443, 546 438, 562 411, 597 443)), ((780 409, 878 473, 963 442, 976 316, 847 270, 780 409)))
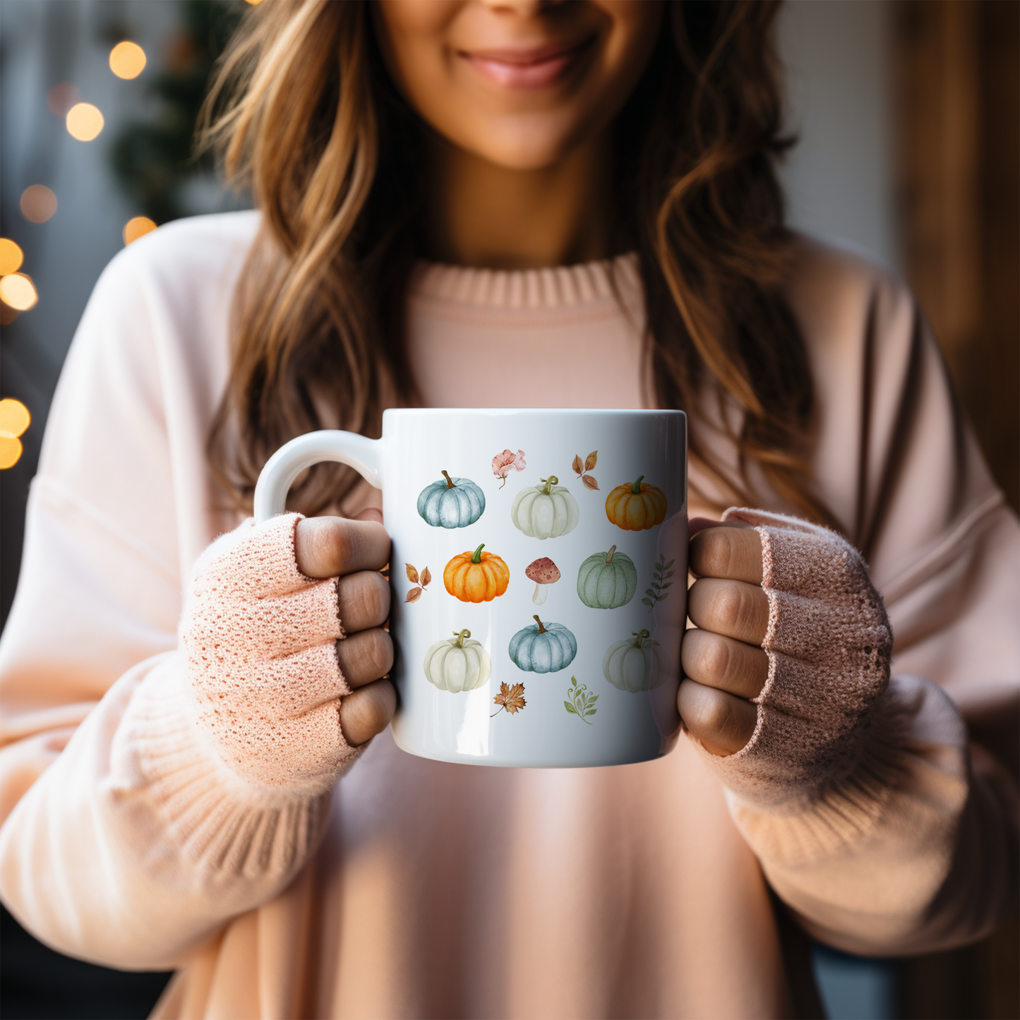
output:
POLYGON ((340 727, 350 694, 337 578, 298 570, 300 514, 246 521, 196 564, 181 624, 198 725, 239 774, 305 794, 328 788, 357 752, 340 727))

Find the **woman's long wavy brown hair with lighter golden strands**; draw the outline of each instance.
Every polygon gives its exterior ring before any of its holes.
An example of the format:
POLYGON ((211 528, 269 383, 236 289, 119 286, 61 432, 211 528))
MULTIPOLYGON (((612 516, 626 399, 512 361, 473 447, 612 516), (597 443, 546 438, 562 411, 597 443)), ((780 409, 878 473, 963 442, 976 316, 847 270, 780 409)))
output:
MULTIPOLYGON (((672 0, 615 125, 612 212, 619 244, 640 260, 650 396, 691 415, 690 451, 716 501, 753 504, 763 483, 830 520, 812 488, 812 381, 783 293, 792 238, 775 164, 790 143, 777 7, 672 0)), ((263 213, 208 446, 239 506, 293 437, 378 436, 386 404, 420 403, 404 314, 427 131, 384 67, 364 0, 263 3, 224 54, 202 138, 263 213)), ((355 481, 349 468, 319 465, 291 505, 320 512, 355 481)))

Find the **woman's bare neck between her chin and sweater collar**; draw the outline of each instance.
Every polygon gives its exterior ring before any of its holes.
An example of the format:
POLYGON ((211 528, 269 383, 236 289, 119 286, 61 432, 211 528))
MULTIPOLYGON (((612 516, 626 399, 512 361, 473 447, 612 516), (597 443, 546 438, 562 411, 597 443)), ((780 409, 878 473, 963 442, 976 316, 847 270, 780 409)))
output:
POLYGON ((599 138, 553 166, 518 170, 435 139, 427 256, 493 269, 609 257, 608 141, 599 138))

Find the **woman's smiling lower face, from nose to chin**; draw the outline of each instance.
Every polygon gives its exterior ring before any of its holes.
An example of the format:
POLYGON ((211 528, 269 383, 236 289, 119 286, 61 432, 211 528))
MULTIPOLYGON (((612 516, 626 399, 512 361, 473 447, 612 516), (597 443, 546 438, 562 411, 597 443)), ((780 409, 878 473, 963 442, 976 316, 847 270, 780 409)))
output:
POLYGON ((391 73, 444 138, 513 169, 554 165, 619 112, 662 0, 381 0, 391 73))

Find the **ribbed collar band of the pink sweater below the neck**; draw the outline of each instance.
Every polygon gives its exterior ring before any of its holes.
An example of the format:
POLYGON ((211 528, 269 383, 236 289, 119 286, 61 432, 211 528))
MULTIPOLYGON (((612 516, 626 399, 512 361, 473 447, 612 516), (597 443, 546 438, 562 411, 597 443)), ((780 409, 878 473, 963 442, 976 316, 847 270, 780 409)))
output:
POLYGON ((641 287, 638 256, 630 252, 548 269, 478 269, 419 262, 411 295, 474 307, 538 309, 611 301, 617 292, 625 295, 635 287, 641 287))

